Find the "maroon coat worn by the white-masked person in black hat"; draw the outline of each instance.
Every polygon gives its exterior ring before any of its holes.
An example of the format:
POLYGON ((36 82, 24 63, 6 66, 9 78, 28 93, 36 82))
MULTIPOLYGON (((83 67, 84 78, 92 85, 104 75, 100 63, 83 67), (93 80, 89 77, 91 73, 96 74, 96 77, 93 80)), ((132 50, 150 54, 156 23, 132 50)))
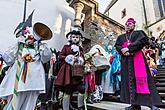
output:
MULTIPOLYGON (((73 52, 71 49, 71 45, 64 45, 59 59, 62 62, 61 69, 57 75, 57 79, 55 80, 55 85, 59 88, 65 88, 65 87, 74 87, 74 85, 79 84, 82 82, 82 80, 75 81, 72 79, 72 70, 71 70, 71 65, 65 62, 65 57, 67 55, 75 55, 76 53, 73 52)), ((83 48, 80 47, 80 56, 84 58, 83 56, 83 48)))

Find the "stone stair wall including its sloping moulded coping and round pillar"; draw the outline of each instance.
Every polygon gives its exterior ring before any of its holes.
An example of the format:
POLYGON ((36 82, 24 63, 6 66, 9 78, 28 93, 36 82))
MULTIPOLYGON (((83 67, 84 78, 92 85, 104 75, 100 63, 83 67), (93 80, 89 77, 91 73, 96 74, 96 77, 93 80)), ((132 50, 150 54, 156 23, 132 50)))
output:
MULTIPOLYGON (((80 15, 80 10, 85 15, 81 26, 85 35, 84 37, 88 39, 84 43, 86 49, 94 44, 102 46, 114 44, 112 40, 124 32, 123 25, 98 11, 98 3, 95 0, 67 0, 67 2, 75 9, 75 13, 79 13, 76 15, 80 15)), ((81 18, 76 15, 75 23, 78 23, 76 21, 81 18)))

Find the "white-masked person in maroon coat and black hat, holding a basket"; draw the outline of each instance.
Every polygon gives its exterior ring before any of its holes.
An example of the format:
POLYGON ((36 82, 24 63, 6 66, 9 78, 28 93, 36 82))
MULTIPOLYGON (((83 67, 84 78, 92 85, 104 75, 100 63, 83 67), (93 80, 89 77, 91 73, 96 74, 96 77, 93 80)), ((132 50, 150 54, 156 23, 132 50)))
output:
POLYGON ((61 69, 58 73, 55 85, 64 92, 63 110, 70 110, 70 96, 73 92, 78 91, 78 108, 83 109, 83 96, 85 88, 83 85, 83 76, 80 71, 77 71, 77 76, 73 76, 73 65, 84 65, 83 48, 80 46, 83 38, 80 31, 73 30, 66 35, 69 42, 64 45, 59 59, 61 60, 61 69), (80 94, 81 93, 81 94, 80 94))

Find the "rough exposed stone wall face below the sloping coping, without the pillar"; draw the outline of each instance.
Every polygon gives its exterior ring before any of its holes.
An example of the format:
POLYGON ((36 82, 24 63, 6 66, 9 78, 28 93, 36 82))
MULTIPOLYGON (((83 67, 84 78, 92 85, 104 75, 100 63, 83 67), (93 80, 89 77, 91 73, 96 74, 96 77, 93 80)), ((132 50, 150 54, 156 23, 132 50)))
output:
POLYGON ((84 19, 84 32, 90 36, 92 44, 108 45, 112 39, 124 32, 124 27, 111 22, 103 15, 94 14, 94 17, 84 19))

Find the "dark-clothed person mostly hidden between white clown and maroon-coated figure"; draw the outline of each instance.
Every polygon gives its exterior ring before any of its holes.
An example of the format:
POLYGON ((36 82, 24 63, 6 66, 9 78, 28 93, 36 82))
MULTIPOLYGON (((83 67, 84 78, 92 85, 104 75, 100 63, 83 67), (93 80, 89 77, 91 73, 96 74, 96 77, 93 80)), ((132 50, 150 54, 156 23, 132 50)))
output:
POLYGON ((56 49, 55 48, 50 48, 52 57, 51 60, 44 63, 44 70, 45 70, 45 82, 46 82, 46 93, 40 94, 39 95, 39 100, 41 102, 40 110, 52 110, 52 101, 54 100, 53 93, 55 92, 54 88, 54 80, 55 80, 55 74, 56 73, 56 49))

